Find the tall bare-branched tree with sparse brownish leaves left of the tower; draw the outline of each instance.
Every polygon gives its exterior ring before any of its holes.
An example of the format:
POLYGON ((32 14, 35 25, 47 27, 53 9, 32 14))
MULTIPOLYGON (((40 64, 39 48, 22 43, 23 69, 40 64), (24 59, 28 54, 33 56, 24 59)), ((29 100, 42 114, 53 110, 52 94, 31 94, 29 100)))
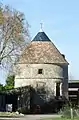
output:
POLYGON ((28 29, 23 13, 0 5, 0 66, 16 62, 29 38, 28 29))

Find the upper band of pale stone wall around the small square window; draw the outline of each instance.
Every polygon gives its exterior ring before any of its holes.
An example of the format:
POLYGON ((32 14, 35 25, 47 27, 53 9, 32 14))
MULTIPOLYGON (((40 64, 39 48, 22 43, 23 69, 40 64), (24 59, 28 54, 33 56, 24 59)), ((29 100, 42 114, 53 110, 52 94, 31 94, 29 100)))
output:
POLYGON ((19 73, 16 78, 63 78, 63 68, 54 64, 19 64, 19 73), (43 69, 38 74, 38 69, 43 69))

